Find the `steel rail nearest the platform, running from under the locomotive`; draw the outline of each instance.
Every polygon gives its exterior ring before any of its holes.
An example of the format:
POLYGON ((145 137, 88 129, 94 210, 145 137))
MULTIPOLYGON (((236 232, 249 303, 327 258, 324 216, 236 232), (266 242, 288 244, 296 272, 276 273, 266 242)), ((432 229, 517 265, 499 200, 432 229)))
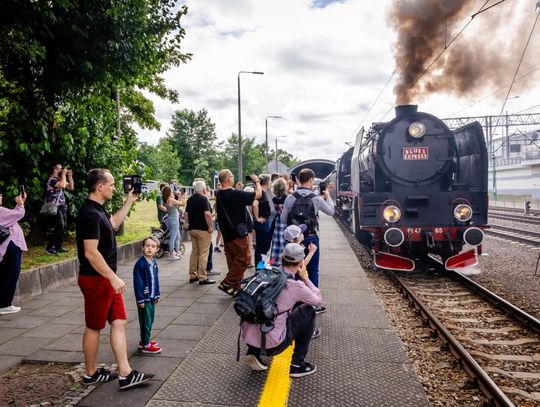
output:
POLYGON ((391 272, 391 276, 405 291, 407 296, 415 303, 424 318, 429 321, 429 324, 437 330, 437 333, 442 336, 454 356, 461 362, 465 371, 478 384, 480 390, 486 395, 490 402, 496 406, 515 407, 514 403, 501 390, 499 386, 489 377, 489 375, 480 367, 478 362, 467 352, 461 343, 452 335, 452 333, 442 324, 442 322, 426 307, 426 305, 416 296, 416 294, 404 283, 396 273, 391 272))

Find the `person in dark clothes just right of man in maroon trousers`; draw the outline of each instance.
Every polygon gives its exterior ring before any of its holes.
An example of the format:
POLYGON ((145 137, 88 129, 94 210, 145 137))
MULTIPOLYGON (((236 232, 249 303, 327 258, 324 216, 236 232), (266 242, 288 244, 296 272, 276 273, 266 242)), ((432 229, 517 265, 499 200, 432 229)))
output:
POLYGON ((255 266, 259 264, 263 254, 268 254, 272 243, 272 221, 270 201, 268 200, 268 187, 270 185, 270 176, 261 174, 262 195, 253 202, 253 224, 255 227, 255 266))

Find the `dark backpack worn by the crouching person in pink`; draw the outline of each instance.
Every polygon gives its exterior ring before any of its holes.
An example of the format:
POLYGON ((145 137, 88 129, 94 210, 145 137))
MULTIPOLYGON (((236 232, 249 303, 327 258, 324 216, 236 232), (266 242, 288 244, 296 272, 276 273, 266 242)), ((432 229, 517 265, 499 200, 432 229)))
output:
MULTIPOLYGON (((242 289, 234 296, 234 310, 243 322, 261 326, 261 354, 266 352, 266 333, 274 328, 274 320, 280 315, 276 300, 281 290, 287 284, 287 279, 293 278, 283 269, 259 269, 251 277, 242 280, 242 289)), ((287 311, 284 311, 287 312, 287 311)), ((240 332, 241 333, 241 332, 240 332)), ((238 353, 240 358, 240 334, 238 335, 238 353)))

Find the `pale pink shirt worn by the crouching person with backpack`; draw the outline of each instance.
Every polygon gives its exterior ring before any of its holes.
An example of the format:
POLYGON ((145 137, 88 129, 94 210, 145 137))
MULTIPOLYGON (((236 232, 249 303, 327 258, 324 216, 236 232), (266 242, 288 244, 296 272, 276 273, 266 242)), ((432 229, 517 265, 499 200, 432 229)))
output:
MULTIPOLYGON (((285 269, 285 271, 290 275, 293 275, 289 270, 285 269)), ((278 315, 274 321, 274 329, 266 334, 266 349, 276 347, 285 339, 285 335, 287 334, 287 316, 289 315, 287 311, 290 311, 297 302, 303 302, 315 307, 321 305, 321 292, 311 281, 304 284, 302 281, 297 281, 292 278, 287 279, 287 285, 279 293, 276 300, 280 315, 278 315)), ((242 324, 242 337, 248 345, 260 348, 260 325, 244 322, 242 324)))

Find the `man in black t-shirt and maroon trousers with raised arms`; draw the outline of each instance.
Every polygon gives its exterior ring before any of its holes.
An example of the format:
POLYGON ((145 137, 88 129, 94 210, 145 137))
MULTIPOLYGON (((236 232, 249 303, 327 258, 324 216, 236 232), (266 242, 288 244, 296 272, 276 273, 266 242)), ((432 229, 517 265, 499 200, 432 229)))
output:
POLYGON ((251 175, 255 192, 234 189, 234 176, 228 169, 219 172, 221 190, 216 195, 216 211, 219 227, 225 242, 227 258, 227 275, 219 285, 219 289, 233 295, 240 289, 240 281, 251 262, 251 247, 247 228, 247 207, 262 195, 259 177, 251 175))

